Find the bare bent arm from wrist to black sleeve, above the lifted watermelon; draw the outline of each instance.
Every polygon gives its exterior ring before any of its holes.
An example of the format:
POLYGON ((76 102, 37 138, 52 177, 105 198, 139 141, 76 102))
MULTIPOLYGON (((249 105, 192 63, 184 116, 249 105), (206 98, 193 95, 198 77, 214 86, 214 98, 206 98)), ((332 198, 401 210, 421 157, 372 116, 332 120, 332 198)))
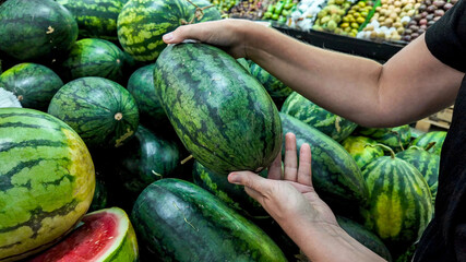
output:
POLYGON ((451 105, 463 78, 435 61, 423 41, 382 66, 271 28, 243 34, 248 58, 313 103, 366 127, 408 123, 451 105))

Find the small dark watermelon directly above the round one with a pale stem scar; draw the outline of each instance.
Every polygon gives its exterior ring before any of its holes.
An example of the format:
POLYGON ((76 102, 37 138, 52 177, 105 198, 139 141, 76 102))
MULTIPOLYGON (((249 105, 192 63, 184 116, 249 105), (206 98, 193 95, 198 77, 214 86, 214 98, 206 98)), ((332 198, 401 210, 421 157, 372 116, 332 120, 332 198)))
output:
POLYGON ((123 51, 115 44, 86 38, 76 41, 60 69, 68 81, 100 76, 122 83, 124 61, 123 51))

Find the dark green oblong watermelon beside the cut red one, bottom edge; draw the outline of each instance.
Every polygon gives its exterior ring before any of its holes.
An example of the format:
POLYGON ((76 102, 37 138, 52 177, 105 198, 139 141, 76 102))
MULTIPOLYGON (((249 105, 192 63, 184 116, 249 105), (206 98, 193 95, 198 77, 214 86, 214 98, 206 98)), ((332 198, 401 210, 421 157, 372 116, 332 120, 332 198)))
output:
POLYGON ((131 218, 140 246, 162 261, 286 261, 254 224, 204 189, 180 179, 148 186, 131 218))

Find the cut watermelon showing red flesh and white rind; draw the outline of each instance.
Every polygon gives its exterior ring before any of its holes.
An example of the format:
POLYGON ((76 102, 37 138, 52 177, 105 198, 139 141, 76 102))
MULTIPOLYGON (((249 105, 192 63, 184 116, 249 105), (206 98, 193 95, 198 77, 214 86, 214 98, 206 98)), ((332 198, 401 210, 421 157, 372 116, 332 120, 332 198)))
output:
POLYGON ((138 241, 127 213, 118 207, 85 215, 70 236, 28 262, 138 261, 138 241))

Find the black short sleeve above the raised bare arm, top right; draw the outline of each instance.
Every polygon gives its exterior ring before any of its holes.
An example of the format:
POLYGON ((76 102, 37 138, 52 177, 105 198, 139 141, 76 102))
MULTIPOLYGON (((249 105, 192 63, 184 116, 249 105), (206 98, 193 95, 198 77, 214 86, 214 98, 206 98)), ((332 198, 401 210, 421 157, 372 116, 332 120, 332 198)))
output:
POLYGON ((459 0, 428 28, 426 44, 437 59, 466 71, 466 0, 459 0))

